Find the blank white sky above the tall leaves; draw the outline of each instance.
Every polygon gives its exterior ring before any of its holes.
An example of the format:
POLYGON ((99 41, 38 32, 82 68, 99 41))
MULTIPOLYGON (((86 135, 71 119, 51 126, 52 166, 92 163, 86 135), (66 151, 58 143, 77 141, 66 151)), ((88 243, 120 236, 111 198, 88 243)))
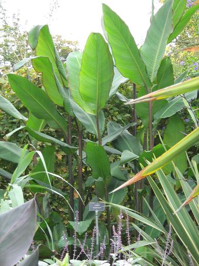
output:
MULTIPOLYGON (((151 0, 5 0, 4 7, 11 17, 20 13, 20 21, 29 31, 37 24, 49 24, 53 35, 62 35, 67 40, 78 40, 83 49, 91 32, 102 32, 102 3, 112 8, 128 25, 136 43, 141 45, 150 23, 151 0), (52 4, 59 7, 49 21, 52 4)), ((154 0, 155 12, 160 8, 154 0)))

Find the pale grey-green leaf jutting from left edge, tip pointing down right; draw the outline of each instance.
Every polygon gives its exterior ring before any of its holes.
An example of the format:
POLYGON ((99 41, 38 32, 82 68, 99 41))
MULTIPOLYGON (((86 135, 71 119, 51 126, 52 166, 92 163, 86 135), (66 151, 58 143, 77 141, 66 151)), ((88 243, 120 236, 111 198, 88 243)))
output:
POLYGON ((27 121, 28 118, 20 114, 19 111, 10 103, 9 100, 0 95, 0 109, 14 118, 27 121))

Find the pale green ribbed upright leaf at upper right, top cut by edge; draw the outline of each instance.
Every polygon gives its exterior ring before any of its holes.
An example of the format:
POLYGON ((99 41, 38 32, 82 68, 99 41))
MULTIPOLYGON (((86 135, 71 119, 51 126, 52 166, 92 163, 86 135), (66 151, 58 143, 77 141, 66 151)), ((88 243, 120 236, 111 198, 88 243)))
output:
POLYGON ((156 78, 167 39, 172 32, 172 2, 168 0, 153 16, 141 48, 141 57, 151 81, 156 78))

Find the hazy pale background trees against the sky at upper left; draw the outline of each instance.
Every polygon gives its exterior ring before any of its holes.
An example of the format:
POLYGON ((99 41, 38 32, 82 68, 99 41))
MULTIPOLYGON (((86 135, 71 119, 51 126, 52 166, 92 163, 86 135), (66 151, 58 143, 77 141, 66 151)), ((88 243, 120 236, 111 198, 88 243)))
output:
MULTIPOLYGON (((51 3, 50 12, 47 14, 49 21, 53 21, 54 12, 58 7, 57 1, 51 3)), ((0 66, 9 69, 20 60, 34 55, 34 52, 28 45, 28 34, 21 26, 19 13, 14 13, 10 19, 2 0, 0 13, 0 66)), ((78 50, 77 41, 65 40, 60 35, 54 36, 53 41, 62 60, 65 60, 70 52, 78 50)))

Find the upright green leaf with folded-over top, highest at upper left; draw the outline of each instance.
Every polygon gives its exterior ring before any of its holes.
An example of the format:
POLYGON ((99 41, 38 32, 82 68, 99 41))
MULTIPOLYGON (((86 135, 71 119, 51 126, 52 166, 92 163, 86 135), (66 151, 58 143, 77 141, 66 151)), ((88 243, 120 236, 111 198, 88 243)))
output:
POLYGON ((49 57, 56 76, 63 86, 67 86, 67 76, 62 62, 54 46, 48 25, 37 25, 28 33, 29 44, 36 51, 37 56, 49 57), (61 78, 63 77, 63 79, 61 78))

